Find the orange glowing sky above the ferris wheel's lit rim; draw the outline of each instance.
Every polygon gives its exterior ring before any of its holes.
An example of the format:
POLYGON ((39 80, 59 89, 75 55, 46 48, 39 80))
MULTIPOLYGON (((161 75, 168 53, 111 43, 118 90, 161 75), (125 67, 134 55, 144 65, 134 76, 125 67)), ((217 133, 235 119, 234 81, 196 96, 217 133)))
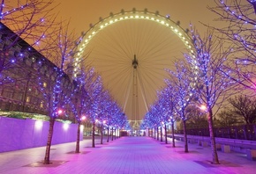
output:
MULTIPOLYGON (((207 5, 214 6, 212 0, 56 0, 60 4, 56 11, 64 19, 71 20, 71 28, 77 33, 86 32, 89 24, 95 24, 99 18, 106 18, 110 12, 117 13, 132 8, 143 11, 159 11, 170 15, 174 21, 179 20, 184 28, 192 23, 201 28, 199 22, 213 24, 214 14, 207 10, 207 5)), ((202 29, 203 30, 203 29, 202 29)))

